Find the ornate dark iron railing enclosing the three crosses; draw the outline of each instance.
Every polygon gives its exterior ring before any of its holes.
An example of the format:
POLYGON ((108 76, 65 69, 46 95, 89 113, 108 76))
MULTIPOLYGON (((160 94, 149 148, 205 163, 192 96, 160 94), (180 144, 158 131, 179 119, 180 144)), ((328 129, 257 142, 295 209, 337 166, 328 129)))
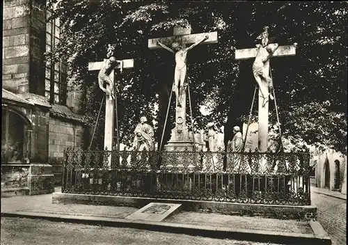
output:
POLYGON ((310 205, 309 153, 77 148, 64 156, 64 193, 310 205))

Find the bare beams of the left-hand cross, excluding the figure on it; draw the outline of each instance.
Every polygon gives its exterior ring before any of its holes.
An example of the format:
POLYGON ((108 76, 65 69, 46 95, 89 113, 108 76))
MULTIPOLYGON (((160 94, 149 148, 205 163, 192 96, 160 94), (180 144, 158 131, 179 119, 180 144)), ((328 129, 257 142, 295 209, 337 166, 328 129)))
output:
MULTIPOLYGON (((105 61, 106 60, 88 63, 88 70, 100 70, 100 68, 102 68, 102 65, 105 61)), ((121 65, 120 65, 121 62, 123 62, 123 67, 122 67, 123 69, 134 68, 134 59, 118 61, 118 65, 116 66, 116 68, 113 69, 113 71, 109 75, 111 81, 113 82, 113 84, 111 84, 111 86, 113 87, 115 85, 114 72, 115 72, 115 69, 121 68, 121 65)), ((110 91, 109 84, 106 85, 106 90, 110 91)), ((113 132, 115 131, 114 125, 113 125, 113 122, 115 119, 115 102, 111 100, 110 96, 111 95, 106 95, 106 100, 105 100, 104 149, 107 148, 107 150, 112 150, 113 132)), ((109 156, 108 162, 109 162, 109 166, 111 166, 111 155, 109 156)))

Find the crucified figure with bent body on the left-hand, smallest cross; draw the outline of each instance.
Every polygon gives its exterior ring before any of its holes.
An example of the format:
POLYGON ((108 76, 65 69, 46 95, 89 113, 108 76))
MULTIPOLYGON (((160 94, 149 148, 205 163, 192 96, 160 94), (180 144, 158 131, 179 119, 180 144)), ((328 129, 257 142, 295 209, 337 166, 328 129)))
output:
POLYGON ((113 71, 114 68, 116 68, 116 65, 118 64, 118 61, 116 61, 116 58, 111 56, 109 59, 104 61, 104 64, 102 65, 102 68, 100 68, 99 74, 98 74, 98 84, 101 90, 104 91, 104 93, 111 95, 110 100, 113 100, 113 81, 111 81, 109 75, 113 71), (104 82, 106 84, 109 84, 109 90, 106 90, 104 88, 104 82))

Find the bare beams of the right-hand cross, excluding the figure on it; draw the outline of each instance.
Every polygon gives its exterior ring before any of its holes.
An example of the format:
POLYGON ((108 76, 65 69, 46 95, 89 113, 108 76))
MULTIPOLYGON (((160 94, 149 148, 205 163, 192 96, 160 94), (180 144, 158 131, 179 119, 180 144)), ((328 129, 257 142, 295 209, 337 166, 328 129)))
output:
MULTIPOLYGON (((255 58, 256 54, 258 54, 258 48, 253 49, 237 49, 235 52, 236 60, 245 60, 248 58, 255 58)), ((280 57, 280 56, 294 56, 296 55, 296 45, 285 45, 279 46, 276 49, 276 52, 272 55, 272 57, 280 57)), ((256 84, 256 81, 253 81, 256 84)), ((258 150, 260 152, 266 152, 268 148, 268 111, 269 111, 269 103, 266 102, 264 106, 262 106, 263 100, 260 100, 262 97, 262 93, 259 88, 259 106, 258 106, 258 150)))

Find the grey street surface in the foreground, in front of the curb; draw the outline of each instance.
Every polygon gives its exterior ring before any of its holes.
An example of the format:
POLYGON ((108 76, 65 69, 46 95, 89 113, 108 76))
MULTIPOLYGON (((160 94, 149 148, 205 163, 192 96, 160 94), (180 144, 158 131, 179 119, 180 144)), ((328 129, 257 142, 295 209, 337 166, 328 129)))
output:
POLYGON ((1 218, 1 245, 276 245, 232 239, 214 239, 166 232, 87 226, 45 220, 1 218))

